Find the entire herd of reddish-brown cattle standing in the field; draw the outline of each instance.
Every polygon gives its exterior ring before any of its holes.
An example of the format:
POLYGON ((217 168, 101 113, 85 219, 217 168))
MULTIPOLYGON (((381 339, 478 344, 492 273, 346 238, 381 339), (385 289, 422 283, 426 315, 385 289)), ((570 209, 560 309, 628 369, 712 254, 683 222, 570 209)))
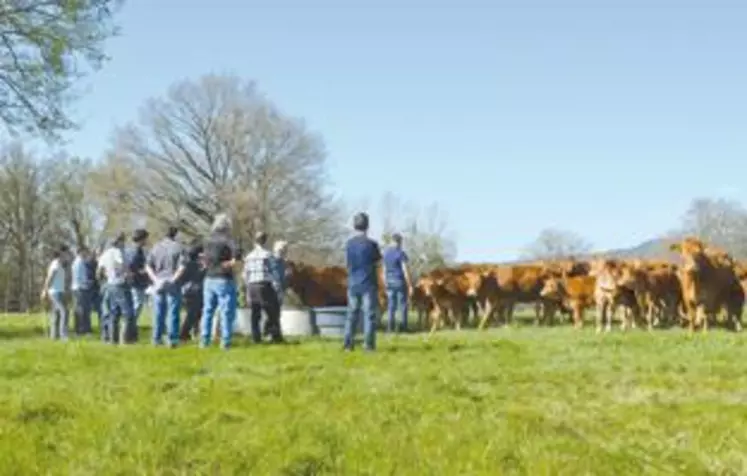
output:
MULTIPOLYGON (((470 321, 480 329, 491 321, 508 325, 517 304, 534 304, 537 324, 551 325, 560 313, 576 327, 583 325, 585 311, 595 308, 597 332, 611 330, 617 311, 622 329, 642 324, 649 330, 682 325, 707 331, 723 322, 741 330, 747 263, 692 237, 672 243, 670 250, 680 255, 680 264, 599 257, 435 269, 415 283, 410 305, 430 332, 447 322, 456 329, 470 321)), ((304 305, 346 304, 345 268, 299 263, 289 268, 289 288, 304 305)), ((379 289, 386 309, 384 287, 379 289)))

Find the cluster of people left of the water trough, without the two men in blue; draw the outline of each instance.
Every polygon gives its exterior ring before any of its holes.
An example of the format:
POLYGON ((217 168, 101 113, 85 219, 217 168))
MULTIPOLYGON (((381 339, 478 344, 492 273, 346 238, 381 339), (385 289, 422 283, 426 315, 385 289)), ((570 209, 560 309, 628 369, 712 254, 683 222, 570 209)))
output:
POLYGON ((238 307, 235 271, 243 261, 252 340, 261 342, 265 334, 272 342, 282 342, 280 309, 287 243, 276 242, 270 251, 267 235, 257 233, 254 249, 242 260, 231 238, 231 220, 224 214, 215 218, 204 240, 184 246, 177 241, 178 232, 177 227, 169 227, 147 251, 149 233, 144 229, 135 230, 129 247, 125 234, 119 233, 98 256, 85 246, 78 247, 74 257, 67 246, 55 250, 42 288, 42 299, 51 305, 50 337, 68 338, 70 290, 76 335, 93 332, 91 316, 96 313, 105 342, 137 342, 138 319, 151 295, 154 345, 176 347, 194 336, 201 346, 209 346, 218 327, 213 326, 214 316, 220 309, 221 346, 229 348, 238 307), (183 320, 182 307, 186 311, 183 320), (260 328, 262 311, 267 316, 264 329, 260 328))

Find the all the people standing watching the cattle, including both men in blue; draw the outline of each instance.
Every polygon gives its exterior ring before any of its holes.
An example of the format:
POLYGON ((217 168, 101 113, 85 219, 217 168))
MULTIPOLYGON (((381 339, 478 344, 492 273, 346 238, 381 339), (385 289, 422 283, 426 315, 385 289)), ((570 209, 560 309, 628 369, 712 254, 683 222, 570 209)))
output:
MULTIPOLYGON (((353 219, 355 236, 346 244, 348 273, 348 316, 345 324, 344 349, 354 347, 357 321, 364 319, 364 349, 376 347, 378 324, 378 266, 383 261, 388 301, 388 330, 395 331, 395 314, 402 313, 402 327, 407 329, 407 303, 412 295, 408 257, 402 249, 402 236, 395 234, 394 245, 382 256, 378 243, 368 236, 369 219, 365 213, 353 219)), ((287 243, 276 242, 267 248, 267 235, 256 234, 254 248, 243 259, 232 240, 232 223, 225 214, 218 215, 204 240, 195 239, 188 246, 177 241, 179 230, 172 226, 166 235, 146 251, 149 233, 137 229, 132 245, 125 247, 124 233, 118 234, 95 256, 80 246, 72 259, 70 290, 74 296, 74 332, 92 333, 91 315, 99 316, 101 338, 109 343, 133 343, 138 340, 138 319, 147 295, 152 296, 154 345, 176 347, 180 341, 197 337, 207 347, 220 327, 220 344, 231 346, 238 308, 238 286, 235 271, 243 262, 243 280, 251 308, 251 336, 261 342, 269 336, 272 342, 283 341, 280 325, 286 282, 287 243), (184 320, 181 310, 185 308, 184 320), (220 326, 213 326, 220 309, 220 326), (261 329, 262 312, 267 316, 261 329)), ((56 250, 44 282, 42 298, 51 304, 50 337, 68 338, 67 265, 72 256, 67 246, 56 250)), ((217 324, 217 322, 216 322, 217 324)))

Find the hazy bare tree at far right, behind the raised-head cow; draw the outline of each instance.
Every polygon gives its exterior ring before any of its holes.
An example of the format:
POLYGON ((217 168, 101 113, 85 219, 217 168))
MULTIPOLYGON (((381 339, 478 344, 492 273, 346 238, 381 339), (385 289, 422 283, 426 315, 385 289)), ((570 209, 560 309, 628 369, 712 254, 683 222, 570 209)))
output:
POLYGON ((735 200, 696 198, 675 235, 694 235, 737 258, 747 258, 747 210, 735 200))

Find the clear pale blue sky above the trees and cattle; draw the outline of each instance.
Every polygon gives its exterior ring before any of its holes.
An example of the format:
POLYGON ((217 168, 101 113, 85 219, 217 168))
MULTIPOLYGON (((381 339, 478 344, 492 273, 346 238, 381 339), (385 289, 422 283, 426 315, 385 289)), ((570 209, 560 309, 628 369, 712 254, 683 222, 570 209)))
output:
POLYGON ((392 192, 437 202, 462 260, 545 227, 632 246, 695 196, 747 198, 741 3, 129 0, 69 150, 99 157, 147 98, 236 73, 324 136, 374 224, 392 192))

